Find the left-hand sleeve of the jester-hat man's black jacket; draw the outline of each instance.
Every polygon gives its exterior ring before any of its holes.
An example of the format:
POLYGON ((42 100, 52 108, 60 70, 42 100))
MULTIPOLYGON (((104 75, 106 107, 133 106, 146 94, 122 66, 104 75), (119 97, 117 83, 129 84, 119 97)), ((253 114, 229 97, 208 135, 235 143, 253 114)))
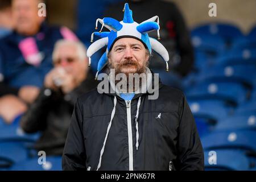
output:
POLYGON ((62 168, 67 171, 83 170, 86 164, 84 135, 82 134, 82 113, 77 100, 66 139, 62 168))

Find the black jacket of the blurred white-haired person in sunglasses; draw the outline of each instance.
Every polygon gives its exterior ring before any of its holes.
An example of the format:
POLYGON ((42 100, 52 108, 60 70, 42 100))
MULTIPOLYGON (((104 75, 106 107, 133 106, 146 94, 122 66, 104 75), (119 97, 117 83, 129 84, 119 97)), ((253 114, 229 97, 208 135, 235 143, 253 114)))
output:
POLYGON ((47 155, 62 155, 72 111, 77 97, 92 90, 97 85, 92 73, 71 93, 64 95, 43 88, 35 102, 20 120, 20 126, 26 133, 42 131, 42 136, 33 146, 47 155))

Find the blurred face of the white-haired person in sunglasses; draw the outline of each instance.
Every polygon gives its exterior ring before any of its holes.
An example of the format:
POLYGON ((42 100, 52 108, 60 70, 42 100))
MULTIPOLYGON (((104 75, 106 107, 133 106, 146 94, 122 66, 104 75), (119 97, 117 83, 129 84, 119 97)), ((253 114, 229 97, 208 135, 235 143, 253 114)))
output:
POLYGON ((72 45, 63 45, 57 49, 56 60, 53 60, 55 68, 64 69, 75 79, 84 75, 87 69, 88 61, 81 60, 77 55, 77 48, 72 45))

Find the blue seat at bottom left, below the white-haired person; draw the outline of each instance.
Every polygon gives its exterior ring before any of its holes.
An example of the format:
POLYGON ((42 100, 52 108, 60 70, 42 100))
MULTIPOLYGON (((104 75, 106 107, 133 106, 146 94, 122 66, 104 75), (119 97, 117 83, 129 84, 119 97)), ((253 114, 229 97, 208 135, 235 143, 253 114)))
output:
MULTIPOLYGON (((14 164, 11 171, 61 171, 62 156, 46 156, 46 164, 39 164, 38 158, 24 160, 14 164)), ((42 161, 40 161, 42 162, 42 161)))

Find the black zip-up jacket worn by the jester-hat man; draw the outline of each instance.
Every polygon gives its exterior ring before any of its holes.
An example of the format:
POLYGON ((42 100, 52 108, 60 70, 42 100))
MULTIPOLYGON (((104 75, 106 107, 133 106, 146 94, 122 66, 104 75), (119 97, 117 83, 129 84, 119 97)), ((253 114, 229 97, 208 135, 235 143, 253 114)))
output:
POLYGON ((184 94, 160 83, 158 99, 148 100, 149 95, 135 94, 130 104, 97 89, 79 97, 65 143, 63 169, 203 170, 203 148, 184 94))

